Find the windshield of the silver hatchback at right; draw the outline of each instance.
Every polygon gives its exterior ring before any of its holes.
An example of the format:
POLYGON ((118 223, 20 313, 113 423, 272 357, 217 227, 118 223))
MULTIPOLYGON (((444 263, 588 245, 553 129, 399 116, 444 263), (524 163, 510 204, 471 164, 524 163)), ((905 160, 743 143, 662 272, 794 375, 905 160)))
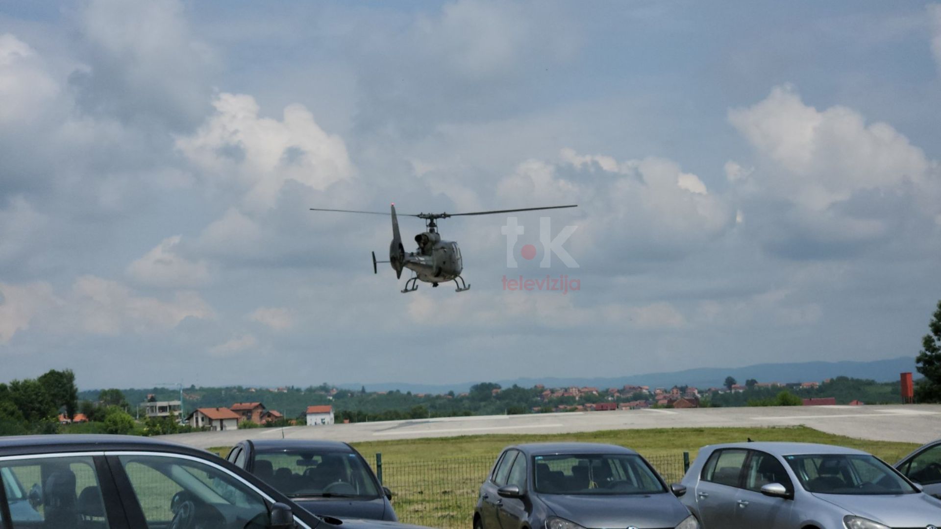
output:
POLYGON ((785 460, 808 492, 849 495, 917 492, 891 467, 868 455, 788 456, 785 460))

